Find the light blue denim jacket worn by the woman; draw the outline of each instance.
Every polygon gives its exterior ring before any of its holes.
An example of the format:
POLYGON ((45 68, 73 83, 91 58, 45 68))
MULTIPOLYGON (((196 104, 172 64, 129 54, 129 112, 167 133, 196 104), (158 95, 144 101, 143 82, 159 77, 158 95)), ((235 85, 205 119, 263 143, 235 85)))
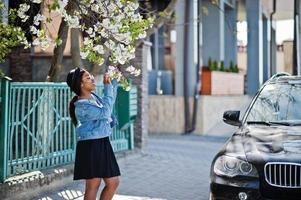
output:
POLYGON ((104 138, 112 134, 112 111, 117 95, 117 81, 105 84, 103 97, 92 93, 94 101, 79 99, 75 105, 78 125, 75 129, 77 141, 104 138), (97 102, 97 103, 96 103, 97 102))

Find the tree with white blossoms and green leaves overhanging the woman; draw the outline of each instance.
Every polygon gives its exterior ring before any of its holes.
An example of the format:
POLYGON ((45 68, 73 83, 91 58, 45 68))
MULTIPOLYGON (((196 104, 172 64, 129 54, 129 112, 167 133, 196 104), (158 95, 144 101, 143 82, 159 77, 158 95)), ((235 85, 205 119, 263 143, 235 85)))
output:
MULTIPOLYGON (((163 12, 165 16, 171 15, 175 3, 176 0, 171 1, 163 12)), ((0 3, 1 8, 3 4, 0 3)), ((43 50, 52 46, 54 56, 47 81, 54 81, 71 28, 83 36, 81 47, 76 45, 72 54, 78 50, 82 59, 105 66, 111 77, 117 78, 124 88, 128 88, 128 81, 121 72, 127 71, 134 76, 140 74, 140 69, 133 67, 130 62, 135 57, 137 40, 151 34, 154 20, 157 25, 164 21, 164 17, 143 18, 138 8, 135 0, 24 0, 17 9, 11 9, 9 15, 12 19, 19 19, 23 27, 26 24, 28 30, 25 32, 29 32, 33 40, 29 42, 20 27, 0 21, 0 36, 7 40, 4 45, 0 43, 0 62, 12 47, 20 43, 25 48, 39 46, 43 50), (33 8, 39 8, 34 16, 33 8), (55 17, 61 18, 61 22, 58 33, 51 34, 55 17), (10 31, 5 31, 7 28, 10 31)), ((78 40, 78 34, 76 37, 75 41, 78 40)))

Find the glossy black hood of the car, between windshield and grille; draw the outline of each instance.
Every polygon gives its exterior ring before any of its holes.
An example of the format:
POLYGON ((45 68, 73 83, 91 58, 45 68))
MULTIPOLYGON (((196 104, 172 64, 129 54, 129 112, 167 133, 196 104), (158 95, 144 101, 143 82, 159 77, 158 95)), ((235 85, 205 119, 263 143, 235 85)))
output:
POLYGON ((248 126, 242 145, 248 161, 300 162, 301 127, 248 126))

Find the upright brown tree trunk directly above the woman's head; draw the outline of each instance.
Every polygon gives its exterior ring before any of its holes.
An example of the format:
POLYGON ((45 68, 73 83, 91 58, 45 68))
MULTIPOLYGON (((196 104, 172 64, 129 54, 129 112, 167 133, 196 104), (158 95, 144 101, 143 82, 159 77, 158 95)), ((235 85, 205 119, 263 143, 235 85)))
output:
POLYGON ((83 62, 80 57, 80 31, 78 28, 71 29, 71 57, 73 67, 83 67, 83 62))

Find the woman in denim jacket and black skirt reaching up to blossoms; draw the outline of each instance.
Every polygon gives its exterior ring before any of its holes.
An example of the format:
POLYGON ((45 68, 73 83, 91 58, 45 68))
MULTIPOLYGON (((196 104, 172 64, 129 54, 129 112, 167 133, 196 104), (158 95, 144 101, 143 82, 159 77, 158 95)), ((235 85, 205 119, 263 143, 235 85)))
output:
POLYGON ((95 200, 101 180, 105 187, 100 200, 110 200, 119 184, 120 171, 109 135, 112 133, 111 115, 117 93, 117 81, 105 75, 103 97, 92 91, 94 77, 86 70, 76 68, 67 76, 67 84, 76 94, 69 104, 72 123, 76 126, 77 146, 74 180, 85 179, 84 200, 95 200))

